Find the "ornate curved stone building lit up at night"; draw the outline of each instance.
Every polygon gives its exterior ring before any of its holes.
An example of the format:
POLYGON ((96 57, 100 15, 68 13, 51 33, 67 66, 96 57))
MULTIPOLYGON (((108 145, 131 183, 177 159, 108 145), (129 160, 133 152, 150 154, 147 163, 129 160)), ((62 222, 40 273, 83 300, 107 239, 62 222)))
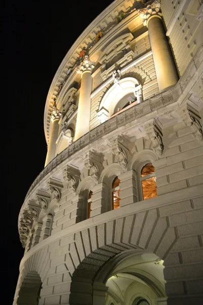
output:
POLYGON ((67 52, 14 305, 203 302, 200 0, 114 1, 67 52))

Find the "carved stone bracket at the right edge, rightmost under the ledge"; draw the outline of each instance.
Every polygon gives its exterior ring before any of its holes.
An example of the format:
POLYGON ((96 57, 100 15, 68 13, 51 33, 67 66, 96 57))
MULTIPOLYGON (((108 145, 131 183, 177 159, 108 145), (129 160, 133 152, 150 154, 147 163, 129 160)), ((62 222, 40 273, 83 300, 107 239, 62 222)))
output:
POLYGON ((203 140, 203 130, 201 125, 201 117, 191 109, 185 109, 182 113, 182 120, 186 126, 192 128, 192 135, 197 141, 203 140))

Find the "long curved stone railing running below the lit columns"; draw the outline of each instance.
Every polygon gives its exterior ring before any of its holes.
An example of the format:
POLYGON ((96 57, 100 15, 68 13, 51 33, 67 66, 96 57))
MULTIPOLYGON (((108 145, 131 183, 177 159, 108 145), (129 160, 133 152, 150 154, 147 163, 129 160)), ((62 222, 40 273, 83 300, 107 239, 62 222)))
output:
POLYGON ((104 135, 125 126, 126 124, 130 123, 133 120, 141 118, 146 114, 151 113, 154 110, 157 110, 165 105, 169 105, 177 101, 178 95, 178 88, 175 86, 167 93, 158 94, 153 98, 150 98, 140 104, 132 106, 125 111, 118 113, 117 115, 113 116, 109 120, 105 121, 103 124, 95 127, 84 136, 82 136, 77 141, 73 142, 70 146, 65 148, 59 155, 57 155, 44 169, 43 171, 37 176, 35 181, 30 186, 25 199, 30 194, 30 192, 36 187, 37 184, 49 173, 51 172, 58 164, 62 163, 65 159, 69 158, 70 156, 74 155, 77 151, 84 148, 88 144, 98 140, 99 138, 103 137, 104 135))

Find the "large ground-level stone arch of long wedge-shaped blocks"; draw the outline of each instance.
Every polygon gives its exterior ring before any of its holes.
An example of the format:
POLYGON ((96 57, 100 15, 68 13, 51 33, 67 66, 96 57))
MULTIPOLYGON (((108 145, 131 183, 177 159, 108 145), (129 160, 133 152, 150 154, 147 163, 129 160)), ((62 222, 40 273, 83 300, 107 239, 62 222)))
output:
MULTIPOLYGON (((111 213, 113 216, 119 212, 111 213)), ((166 218, 159 217, 158 208, 115 218, 75 234, 77 257, 69 253, 66 261, 67 268, 73 271, 71 305, 97 304, 93 300, 106 293, 106 286, 96 282, 96 276, 106 263, 112 265, 111 258, 125 255, 126 251, 145 251, 165 260, 177 241, 175 228, 169 227, 166 218)))

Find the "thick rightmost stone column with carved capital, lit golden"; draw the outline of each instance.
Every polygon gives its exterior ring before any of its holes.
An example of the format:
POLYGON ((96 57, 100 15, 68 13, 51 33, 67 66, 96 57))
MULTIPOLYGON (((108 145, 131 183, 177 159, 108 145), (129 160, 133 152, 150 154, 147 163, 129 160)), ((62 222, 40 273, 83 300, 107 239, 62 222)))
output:
POLYGON ((138 13, 143 19, 143 24, 148 27, 159 91, 163 92, 177 83, 178 72, 165 35, 160 0, 154 1, 145 9, 138 10, 138 13))

